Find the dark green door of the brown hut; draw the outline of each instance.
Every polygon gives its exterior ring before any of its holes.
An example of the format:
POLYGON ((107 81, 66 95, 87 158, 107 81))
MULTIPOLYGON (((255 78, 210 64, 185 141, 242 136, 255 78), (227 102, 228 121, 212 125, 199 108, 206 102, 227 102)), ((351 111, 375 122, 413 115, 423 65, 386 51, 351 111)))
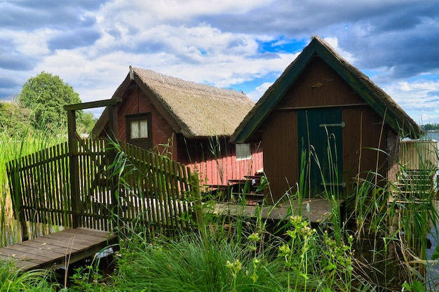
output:
POLYGON ((344 187, 342 161, 342 110, 325 108, 297 112, 299 173, 304 196, 339 192, 344 187), (308 161, 308 163, 303 163, 308 161), (309 193, 308 193, 309 192, 309 193))

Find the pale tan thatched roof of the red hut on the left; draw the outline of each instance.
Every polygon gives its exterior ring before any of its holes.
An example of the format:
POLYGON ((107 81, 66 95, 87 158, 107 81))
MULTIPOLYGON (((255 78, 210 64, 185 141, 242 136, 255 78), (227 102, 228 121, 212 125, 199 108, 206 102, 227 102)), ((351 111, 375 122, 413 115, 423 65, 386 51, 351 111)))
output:
MULTIPOLYGON (((238 91, 184 81, 149 69, 130 67, 126 82, 137 84, 174 131, 186 138, 230 136, 255 105, 238 91)), ((126 88, 127 84, 121 84, 113 98, 123 99, 126 88)), ((104 111, 93 133, 100 133, 107 121, 104 111)))

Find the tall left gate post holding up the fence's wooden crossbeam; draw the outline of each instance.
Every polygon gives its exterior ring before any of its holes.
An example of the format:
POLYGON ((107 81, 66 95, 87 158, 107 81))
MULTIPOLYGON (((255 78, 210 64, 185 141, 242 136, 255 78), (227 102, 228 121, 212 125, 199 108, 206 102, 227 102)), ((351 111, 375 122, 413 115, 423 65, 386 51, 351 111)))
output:
POLYGON ((69 138, 69 159, 70 159, 70 192, 72 199, 72 227, 80 227, 81 200, 79 198, 79 162, 78 162, 78 143, 76 142, 76 111, 67 110, 67 131, 69 138))

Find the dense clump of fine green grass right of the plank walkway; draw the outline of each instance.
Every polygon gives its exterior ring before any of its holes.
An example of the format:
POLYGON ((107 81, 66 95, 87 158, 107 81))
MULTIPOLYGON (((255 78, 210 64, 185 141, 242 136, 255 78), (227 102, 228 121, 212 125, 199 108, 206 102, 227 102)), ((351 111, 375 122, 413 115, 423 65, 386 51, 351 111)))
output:
POLYGON ((138 243, 121 251, 120 291, 276 291, 285 282, 281 260, 252 256, 245 246, 201 235, 138 243))

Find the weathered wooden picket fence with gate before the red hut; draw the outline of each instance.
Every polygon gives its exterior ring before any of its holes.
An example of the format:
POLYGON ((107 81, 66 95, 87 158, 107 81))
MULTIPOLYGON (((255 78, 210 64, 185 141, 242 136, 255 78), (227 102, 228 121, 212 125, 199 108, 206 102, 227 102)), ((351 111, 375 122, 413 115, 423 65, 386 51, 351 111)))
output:
MULTIPOLYGON (((126 142, 76 140, 8 162, 15 215, 26 223, 153 232, 188 229, 201 204, 196 175, 126 142)), ((23 239, 29 235, 22 228, 23 239)))

